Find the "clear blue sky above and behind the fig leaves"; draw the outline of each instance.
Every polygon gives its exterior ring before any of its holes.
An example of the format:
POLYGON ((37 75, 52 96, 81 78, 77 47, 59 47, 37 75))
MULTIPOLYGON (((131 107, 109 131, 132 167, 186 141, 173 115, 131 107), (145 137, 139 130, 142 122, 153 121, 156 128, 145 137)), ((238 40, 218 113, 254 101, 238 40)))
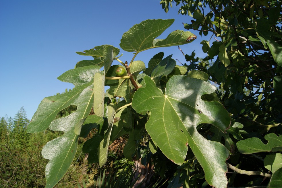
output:
MULTIPOLYGON (((179 7, 174 6, 166 14, 159 2, 0 1, 0 117, 14 117, 23 106, 31 120, 44 97, 73 88, 57 77, 73 69, 78 61, 89 59, 76 51, 103 44, 120 48, 122 34, 147 19, 175 19, 158 38, 165 38, 174 30, 185 30, 182 22, 191 23, 191 17, 177 14, 179 7)), ((204 39, 209 40, 198 36, 181 49, 187 54, 195 50, 196 55, 204 57, 200 44, 204 39)), ((148 65, 150 58, 160 51, 186 63, 177 46, 144 51, 135 60, 148 65)), ((120 53, 123 53, 121 61, 133 57, 123 50, 120 53)))

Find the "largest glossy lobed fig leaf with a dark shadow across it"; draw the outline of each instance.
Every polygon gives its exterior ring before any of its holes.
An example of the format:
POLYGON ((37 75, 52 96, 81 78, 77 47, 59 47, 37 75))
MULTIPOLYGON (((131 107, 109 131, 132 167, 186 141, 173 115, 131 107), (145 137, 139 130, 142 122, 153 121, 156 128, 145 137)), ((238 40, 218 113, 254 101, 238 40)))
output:
POLYGON ((203 80, 176 75, 169 79, 163 94, 150 77, 145 76, 144 82, 146 87, 136 91, 132 107, 138 113, 151 112, 146 130, 154 143, 179 165, 184 162, 189 145, 204 169, 206 181, 214 187, 226 187, 227 148, 205 139, 196 129, 201 123, 210 123, 225 131, 231 122, 222 104, 201 99, 203 94, 214 92, 215 87, 203 80))

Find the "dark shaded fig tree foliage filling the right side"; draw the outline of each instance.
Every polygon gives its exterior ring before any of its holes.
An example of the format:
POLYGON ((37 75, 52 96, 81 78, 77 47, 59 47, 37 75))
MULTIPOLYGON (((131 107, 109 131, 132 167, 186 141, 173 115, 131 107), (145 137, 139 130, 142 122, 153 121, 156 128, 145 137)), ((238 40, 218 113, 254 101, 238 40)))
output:
MULTIPOLYGON (((197 54, 192 52, 192 55, 185 55, 186 61, 190 63, 188 70, 207 73, 209 81, 218 87, 217 100, 232 117, 231 126, 234 121, 241 123, 234 124, 226 131, 227 134, 211 126, 201 126, 198 131, 202 132, 202 136, 224 144, 230 152, 227 162, 237 165, 237 168, 274 173, 268 171, 269 168, 266 170, 267 166, 262 161, 266 160, 269 153, 261 147, 268 142, 274 143, 274 140, 281 145, 280 137, 280 140, 269 139, 270 136, 266 135, 282 134, 282 3, 164 0, 160 4, 165 12, 169 10, 169 5, 179 6, 178 13, 192 17, 191 22, 184 24, 184 28, 198 31, 200 36, 210 37, 209 41, 203 40, 200 44, 206 53, 203 60, 213 62, 208 67, 202 66, 202 62, 196 62, 197 54), (213 38, 217 41, 212 42, 213 38), (246 139, 246 142, 242 139, 246 139), (259 144, 261 147, 256 149, 259 144)), ((281 147, 272 152, 281 152, 281 147)), ((273 161, 269 163, 274 165, 273 161)), ((227 174, 227 178, 230 187, 267 185, 270 180, 237 173, 227 174)), ((189 184, 191 186, 190 181, 189 184)))

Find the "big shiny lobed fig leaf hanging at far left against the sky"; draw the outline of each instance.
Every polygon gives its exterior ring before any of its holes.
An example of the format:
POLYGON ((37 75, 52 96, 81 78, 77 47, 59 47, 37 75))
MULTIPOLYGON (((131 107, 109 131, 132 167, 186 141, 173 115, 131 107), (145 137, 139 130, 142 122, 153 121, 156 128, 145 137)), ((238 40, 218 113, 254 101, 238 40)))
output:
MULTIPOLYGON (((53 131, 64 132, 62 136, 48 142, 42 150, 43 157, 50 160, 45 169, 46 187, 53 187, 58 183, 76 154, 81 127, 93 106, 96 74, 103 77, 100 67, 93 65, 63 73, 58 79, 74 84, 75 88, 64 94, 44 98, 28 125, 27 131, 30 133, 40 132, 48 127, 53 131), (77 110, 67 117, 55 120, 57 113, 70 105, 77 106, 77 110)), ((100 81, 98 83, 104 85, 100 81)))

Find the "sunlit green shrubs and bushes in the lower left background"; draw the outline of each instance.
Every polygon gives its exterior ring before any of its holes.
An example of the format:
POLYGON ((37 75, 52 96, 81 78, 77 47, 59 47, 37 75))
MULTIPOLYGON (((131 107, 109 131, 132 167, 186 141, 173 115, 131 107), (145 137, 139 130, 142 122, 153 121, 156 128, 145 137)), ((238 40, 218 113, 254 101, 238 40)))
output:
MULTIPOLYGON (((67 92, 67 90, 66 90, 67 92)), ((58 95, 58 94, 57 94, 58 95)), ((70 106, 60 113, 57 118, 65 117, 76 107, 70 106)), ((41 155, 43 146, 52 139, 62 135, 61 132, 47 129, 40 133, 26 133, 26 127, 30 121, 26 118, 26 112, 22 107, 14 118, 1 117, 0 120, 0 187, 19 188, 43 188, 46 184, 45 166, 48 160, 41 155), (17 130, 21 130, 18 132, 17 130)), ((78 152, 66 172, 65 176, 55 187, 73 188, 83 185, 91 185, 97 180, 100 171, 122 172, 122 169, 131 167, 133 163, 122 156, 110 152, 107 165, 99 168, 97 164, 88 164, 82 153, 84 139, 80 139, 78 152), (86 181, 88 179, 88 181, 86 181)))

